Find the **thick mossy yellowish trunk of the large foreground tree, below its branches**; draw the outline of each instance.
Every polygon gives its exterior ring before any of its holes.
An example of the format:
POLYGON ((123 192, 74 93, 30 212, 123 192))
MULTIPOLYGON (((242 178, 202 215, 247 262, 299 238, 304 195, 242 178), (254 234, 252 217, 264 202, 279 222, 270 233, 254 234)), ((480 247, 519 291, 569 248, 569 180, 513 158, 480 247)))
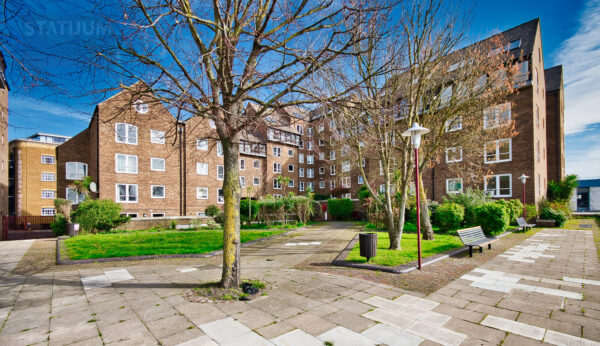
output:
POLYGON ((223 273, 221 287, 240 286, 240 178, 239 146, 237 138, 221 138, 225 178, 223 195, 225 198, 223 222, 223 273))

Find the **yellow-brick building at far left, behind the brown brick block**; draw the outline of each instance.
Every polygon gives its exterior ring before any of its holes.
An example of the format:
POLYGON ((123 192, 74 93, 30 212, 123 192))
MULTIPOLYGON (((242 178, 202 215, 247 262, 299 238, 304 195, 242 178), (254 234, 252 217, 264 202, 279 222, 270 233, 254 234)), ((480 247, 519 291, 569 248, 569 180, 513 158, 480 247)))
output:
POLYGON ((56 147, 70 137, 36 133, 9 143, 8 214, 54 215, 56 147))

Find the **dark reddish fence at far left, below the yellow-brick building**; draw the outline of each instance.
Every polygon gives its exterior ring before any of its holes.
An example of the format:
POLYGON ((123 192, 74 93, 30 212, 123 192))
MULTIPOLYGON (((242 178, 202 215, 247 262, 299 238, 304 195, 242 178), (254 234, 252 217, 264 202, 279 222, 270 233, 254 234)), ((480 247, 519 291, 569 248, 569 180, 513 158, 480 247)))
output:
POLYGON ((3 216, 2 240, 54 238, 54 216, 3 216))

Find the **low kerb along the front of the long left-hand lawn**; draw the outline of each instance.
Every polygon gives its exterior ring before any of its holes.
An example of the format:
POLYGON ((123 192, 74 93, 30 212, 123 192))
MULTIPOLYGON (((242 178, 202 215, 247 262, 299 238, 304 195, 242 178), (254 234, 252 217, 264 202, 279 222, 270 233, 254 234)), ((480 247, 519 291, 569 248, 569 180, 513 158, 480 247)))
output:
MULTIPOLYGON (((267 241, 267 240, 271 240, 277 237, 281 237, 284 235, 288 235, 292 232, 296 232, 299 230, 302 230, 304 227, 299 227, 299 228, 292 228, 287 230, 286 232, 280 233, 280 234, 275 234, 269 237, 265 237, 265 238, 260 238, 260 239, 255 239, 252 241, 248 241, 245 243, 242 243, 242 247, 245 247, 247 245, 251 245, 251 244, 255 244, 255 243, 259 243, 259 242, 263 242, 263 241, 267 241)), ((251 231, 251 230, 250 230, 251 231)), ((169 259, 169 258, 209 258, 209 257, 214 257, 217 255, 220 255, 223 253, 223 250, 215 250, 215 251, 211 251, 211 252, 207 252, 207 253, 202 253, 202 254, 172 254, 172 255, 142 255, 142 256, 127 256, 127 257, 103 257, 103 258, 89 258, 89 259, 81 259, 81 260, 64 260, 62 259, 63 256, 62 254, 64 254, 64 257, 68 257, 66 250, 63 251, 61 253, 61 245, 60 242, 62 240, 68 239, 68 236, 60 236, 58 238, 56 238, 56 264, 57 265, 70 265, 70 264, 86 264, 86 263, 104 263, 104 262, 121 262, 121 261, 143 261, 143 260, 149 260, 149 259, 169 259)))

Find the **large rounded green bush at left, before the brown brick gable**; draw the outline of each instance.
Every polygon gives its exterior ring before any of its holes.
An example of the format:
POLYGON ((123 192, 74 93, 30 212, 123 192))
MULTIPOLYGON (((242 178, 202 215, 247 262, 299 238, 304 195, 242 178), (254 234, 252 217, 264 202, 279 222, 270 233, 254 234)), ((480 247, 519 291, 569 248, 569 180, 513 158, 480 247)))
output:
POLYGON ((86 199, 71 213, 71 219, 86 232, 106 232, 129 221, 121 205, 110 199, 86 199))

